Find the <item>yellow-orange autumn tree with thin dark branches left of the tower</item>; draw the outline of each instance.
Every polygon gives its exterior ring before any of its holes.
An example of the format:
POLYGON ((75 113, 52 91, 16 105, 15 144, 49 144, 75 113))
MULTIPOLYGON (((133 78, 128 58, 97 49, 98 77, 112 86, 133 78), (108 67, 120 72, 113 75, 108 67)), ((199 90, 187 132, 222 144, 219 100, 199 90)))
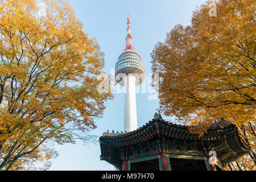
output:
POLYGON ((51 142, 96 127, 112 95, 97 92, 104 54, 83 28, 65 1, 0 2, 1 170, 47 169, 51 142))

